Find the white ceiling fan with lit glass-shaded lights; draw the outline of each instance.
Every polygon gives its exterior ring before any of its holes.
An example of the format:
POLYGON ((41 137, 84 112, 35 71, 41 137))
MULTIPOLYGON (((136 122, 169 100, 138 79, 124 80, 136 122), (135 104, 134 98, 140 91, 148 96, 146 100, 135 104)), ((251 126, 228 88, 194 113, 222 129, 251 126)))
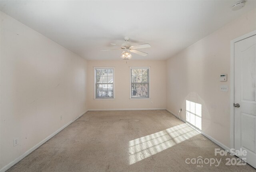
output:
MULTIPOLYGON (((128 60, 128 59, 132 58, 132 55, 129 52, 136 53, 136 54, 142 55, 142 56, 148 55, 148 53, 137 50, 140 48, 150 48, 151 45, 149 45, 148 43, 132 46, 130 43, 128 43, 128 41, 129 41, 128 37, 125 37, 124 40, 126 41, 126 43, 122 43, 122 45, 120 46, 120 49, 106 49, 106 50, 100 50, 100 51, 123 50, 120 57, 124 60, 128 60)), ((116 45, 114 43, 110 43, 110 44, 116 45)), ((119 46, 119 45, 116 45, 116 46, 119 46)))

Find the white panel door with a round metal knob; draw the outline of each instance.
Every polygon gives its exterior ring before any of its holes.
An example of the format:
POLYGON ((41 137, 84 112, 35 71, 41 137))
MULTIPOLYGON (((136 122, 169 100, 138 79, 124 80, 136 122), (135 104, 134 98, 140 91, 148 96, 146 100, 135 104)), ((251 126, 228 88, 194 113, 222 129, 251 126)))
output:
POLYGON ((256 35, 235 43, 235 149, 256 168, 256 35))

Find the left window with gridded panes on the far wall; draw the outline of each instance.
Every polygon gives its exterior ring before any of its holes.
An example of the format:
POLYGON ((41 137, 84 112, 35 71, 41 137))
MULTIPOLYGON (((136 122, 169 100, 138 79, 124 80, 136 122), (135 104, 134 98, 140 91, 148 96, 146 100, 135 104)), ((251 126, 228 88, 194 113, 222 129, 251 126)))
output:
POLYGON ((94 67, 94 72, 94 98, 114 98, 114 67, 94 67))

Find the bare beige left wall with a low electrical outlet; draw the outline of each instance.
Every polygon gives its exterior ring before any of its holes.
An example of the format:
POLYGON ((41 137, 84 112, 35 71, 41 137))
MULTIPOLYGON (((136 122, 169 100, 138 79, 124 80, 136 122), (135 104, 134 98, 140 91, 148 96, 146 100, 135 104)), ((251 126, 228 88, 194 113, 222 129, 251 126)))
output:
POLYGON ((85 111, 86 60, 1 12, 0 168, 85 111))

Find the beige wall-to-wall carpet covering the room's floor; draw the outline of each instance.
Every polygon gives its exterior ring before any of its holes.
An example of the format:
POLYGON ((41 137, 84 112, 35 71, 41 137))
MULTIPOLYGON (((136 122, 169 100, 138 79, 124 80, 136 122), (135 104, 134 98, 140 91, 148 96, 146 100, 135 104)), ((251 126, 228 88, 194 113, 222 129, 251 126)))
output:
POLYGON ((90 111, 8 172, 256 171, 225 165, 237 157, 215 156, 214 148, 220 147, 164 110, 90 111), (205 163, 191 164, 198 156, 205 163), (222 160, 210 166, 207 158, 222 160))

